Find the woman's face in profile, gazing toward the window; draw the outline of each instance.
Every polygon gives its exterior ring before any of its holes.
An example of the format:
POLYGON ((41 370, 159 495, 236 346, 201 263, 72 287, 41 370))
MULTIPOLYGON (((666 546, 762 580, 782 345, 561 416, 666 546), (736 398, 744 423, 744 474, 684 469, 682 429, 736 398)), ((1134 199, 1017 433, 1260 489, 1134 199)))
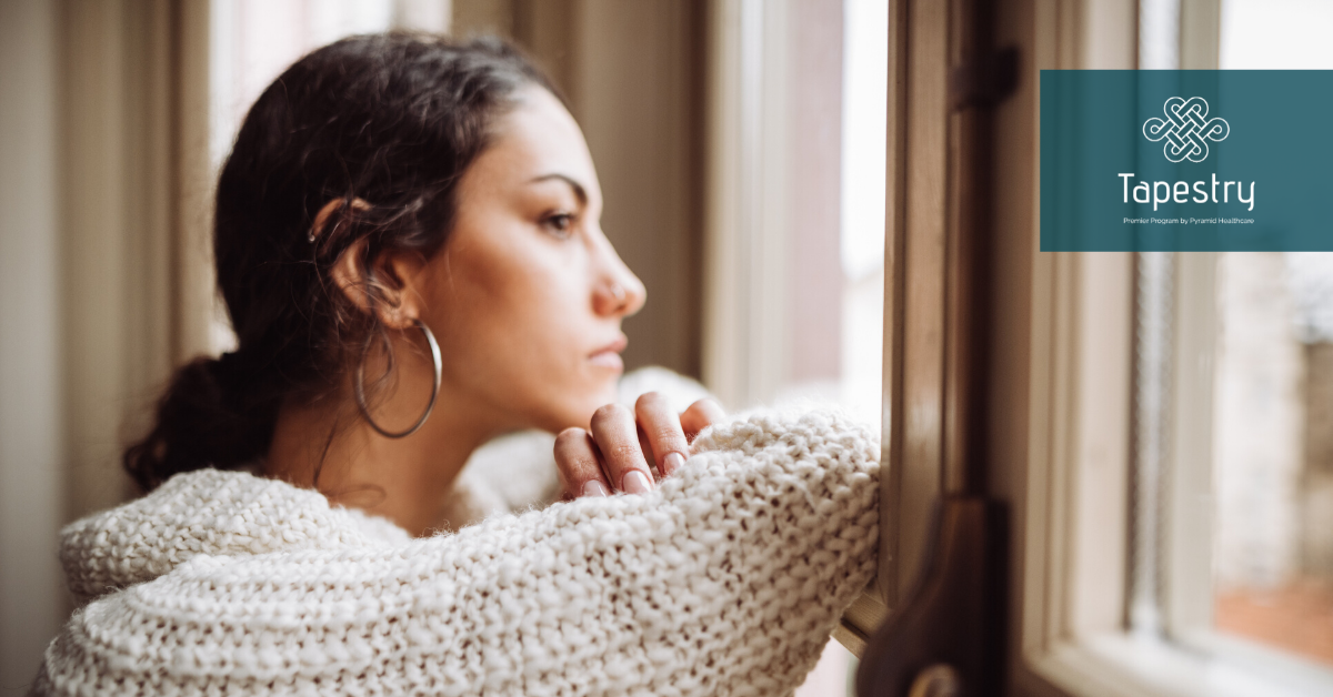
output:
POLYGON ((527 88, 493 132, 419 285, 444 357, 441 397, 503 428, 587 426, 615 401, 620 324, 643 307, 644 285, 603 235, 597 172, 560 101, 527 88))

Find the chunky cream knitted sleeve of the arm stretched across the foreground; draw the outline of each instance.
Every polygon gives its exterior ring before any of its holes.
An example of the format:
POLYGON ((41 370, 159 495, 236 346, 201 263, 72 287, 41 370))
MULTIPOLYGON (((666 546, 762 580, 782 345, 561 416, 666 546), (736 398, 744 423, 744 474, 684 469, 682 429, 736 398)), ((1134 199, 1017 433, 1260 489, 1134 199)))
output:
POLYGON ((649 494, 200 554, 80 609, 37 692, 789 694, 874 572, 877 452, 837 414, 757 414, 649 494))

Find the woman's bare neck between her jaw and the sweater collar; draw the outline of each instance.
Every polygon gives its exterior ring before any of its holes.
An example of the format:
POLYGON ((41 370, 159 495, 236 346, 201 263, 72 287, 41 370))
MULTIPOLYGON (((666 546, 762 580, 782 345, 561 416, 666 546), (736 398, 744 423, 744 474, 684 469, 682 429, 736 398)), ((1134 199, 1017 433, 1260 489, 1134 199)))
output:
MULTIPOLYGON (((339 405, 287 405, 277 418, 264 474, 328 496, 329 502, 389 518, 416 537, 440 530, 444 504, 468 457, 505 429, 476 405, 440 396, 416 433, 388 438, 377 433, 351 400, 339 405), (348 406, 351 405, 351 406, 348 406)), ((375 417, 387 428, 412 424, 407 404, 393 398, 375 417), (380 421, 383 420, 383 421, 380 421)))

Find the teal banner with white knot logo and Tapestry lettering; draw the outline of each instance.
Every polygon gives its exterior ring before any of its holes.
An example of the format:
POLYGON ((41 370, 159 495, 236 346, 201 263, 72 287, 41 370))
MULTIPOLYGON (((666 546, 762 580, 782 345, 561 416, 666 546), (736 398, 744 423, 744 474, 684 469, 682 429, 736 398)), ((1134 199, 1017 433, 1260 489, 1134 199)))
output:
POLYGON ((1041 251, 1333 251, 1333 71, 1041 71, 1041 251))

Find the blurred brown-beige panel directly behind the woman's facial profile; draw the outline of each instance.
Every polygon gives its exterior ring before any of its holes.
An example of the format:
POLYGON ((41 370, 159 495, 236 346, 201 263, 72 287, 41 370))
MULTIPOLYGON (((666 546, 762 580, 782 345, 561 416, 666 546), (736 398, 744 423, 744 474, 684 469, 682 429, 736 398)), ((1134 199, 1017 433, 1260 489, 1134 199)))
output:
POLYGON ((700 374, 702 0, 455 0, 453 33, 499 33, 551 75, 584 129, 601 224, 648 288, 627 369, 700 374))

